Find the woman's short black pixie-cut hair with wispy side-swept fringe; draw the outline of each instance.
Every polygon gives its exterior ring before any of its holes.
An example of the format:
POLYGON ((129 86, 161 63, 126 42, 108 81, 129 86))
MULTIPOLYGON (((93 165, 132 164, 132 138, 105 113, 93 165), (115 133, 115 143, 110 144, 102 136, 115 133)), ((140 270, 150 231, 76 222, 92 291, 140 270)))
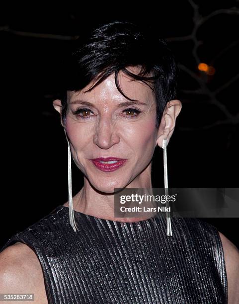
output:
POLYGON ((91 91, 111 74, 115 74, 115 85, 128 100, 118 83, 120 71, 141 80, 153 91, 156 101, 156 128, 169 100, 176 98, 178 68, 175 58, 165 39, 159 39, 150 26, 143 27, 127 21, 113 21, 101 24, 88 34, 73 41, 62 62, 59 94, 62 100, 62 119, 66 122, 68 109, 67 90, 79 91, 93 81, 91 91), (134 66, 139 73, 126 68, 134 66))

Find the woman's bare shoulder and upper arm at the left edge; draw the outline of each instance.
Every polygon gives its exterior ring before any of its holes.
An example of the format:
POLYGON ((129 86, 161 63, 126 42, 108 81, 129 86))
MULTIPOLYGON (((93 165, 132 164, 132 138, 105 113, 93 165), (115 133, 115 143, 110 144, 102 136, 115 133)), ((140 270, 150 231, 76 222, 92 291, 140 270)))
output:
POLYGON ((48 303, 40 261, 28 245, 16 242, 0 252, 0 293, 34 294, 34 303, 48 303))

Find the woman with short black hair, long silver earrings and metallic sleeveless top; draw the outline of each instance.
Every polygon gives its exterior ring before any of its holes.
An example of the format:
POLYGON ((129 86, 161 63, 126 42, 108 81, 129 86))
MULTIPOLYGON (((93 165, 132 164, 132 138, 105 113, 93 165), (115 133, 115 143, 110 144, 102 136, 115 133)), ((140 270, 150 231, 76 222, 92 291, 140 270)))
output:
POLYGON ((181 110, 166 42, 116 21, 77 43, 65 96, 53 102, 69 145, 69 201, 4 245, 0 293, 33 293, 35 303, 237 303, 239 252, 217 228, 114 217, 115 188, 152 188, 155 148, 166 152, 181 110), (73 198, 71 156, 84 174, 73 198))

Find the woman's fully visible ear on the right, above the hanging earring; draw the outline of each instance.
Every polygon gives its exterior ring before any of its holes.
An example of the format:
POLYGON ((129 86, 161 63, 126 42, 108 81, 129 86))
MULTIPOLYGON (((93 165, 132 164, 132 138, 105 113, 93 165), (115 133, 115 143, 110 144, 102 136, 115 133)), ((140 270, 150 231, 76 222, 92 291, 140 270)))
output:
POLYGON ((169 142, 170 137, 175 128, 175 122, 182 108, 182 103, 178 99, 173 99, 167 102, 162 114, 162 119, 159 125, 157 145, 162 147, 162 140, 166 139, 169 142))

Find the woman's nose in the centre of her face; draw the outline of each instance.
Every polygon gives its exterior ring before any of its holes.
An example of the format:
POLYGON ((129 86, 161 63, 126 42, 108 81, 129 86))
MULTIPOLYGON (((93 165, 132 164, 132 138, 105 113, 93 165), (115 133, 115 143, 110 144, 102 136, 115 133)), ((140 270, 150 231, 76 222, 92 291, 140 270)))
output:
POLYGON ((111 146, 120 142, 117 134, 116 125, 110 117, 101 117, 95 126, 93 143, 101 149, 109 149, 111 146))

